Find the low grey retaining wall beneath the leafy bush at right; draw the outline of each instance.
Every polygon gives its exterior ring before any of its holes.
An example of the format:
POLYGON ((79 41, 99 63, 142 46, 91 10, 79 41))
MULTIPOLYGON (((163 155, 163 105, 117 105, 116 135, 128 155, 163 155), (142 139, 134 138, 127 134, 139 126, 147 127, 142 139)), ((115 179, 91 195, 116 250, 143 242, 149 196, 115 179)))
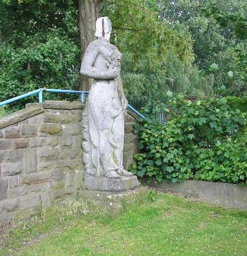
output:
POLYGON ((153 183, 153 185, 171 193, 203 199, 209 203, 226 207, 247 210, 247 186, 207 181, 184 181, 182 183, 162 181, 157 184, 153 183))

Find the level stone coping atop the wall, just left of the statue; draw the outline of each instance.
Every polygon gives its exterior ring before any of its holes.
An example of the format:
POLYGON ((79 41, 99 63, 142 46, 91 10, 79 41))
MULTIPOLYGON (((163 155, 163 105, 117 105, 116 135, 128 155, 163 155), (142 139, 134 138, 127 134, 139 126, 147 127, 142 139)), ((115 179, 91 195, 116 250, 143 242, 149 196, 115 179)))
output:
POLYGON ((54 108, 54 109, 83 109, 85 103, 79 101, 44 101, 42 103, 28 103, 26 108, 30 107, 42 107, 42 108, 54 108))

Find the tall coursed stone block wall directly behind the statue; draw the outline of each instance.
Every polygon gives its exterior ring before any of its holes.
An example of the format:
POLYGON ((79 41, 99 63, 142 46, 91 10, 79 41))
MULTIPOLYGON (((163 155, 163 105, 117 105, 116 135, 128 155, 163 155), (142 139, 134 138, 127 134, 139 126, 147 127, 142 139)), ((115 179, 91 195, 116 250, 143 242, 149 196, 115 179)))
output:
MULTIPOLYGON (((83 188, 79 102, 45 101, 0 119, 0 223, 25 219, 83 188)), ((124 167, 137 151, 125 115, 124 167)))

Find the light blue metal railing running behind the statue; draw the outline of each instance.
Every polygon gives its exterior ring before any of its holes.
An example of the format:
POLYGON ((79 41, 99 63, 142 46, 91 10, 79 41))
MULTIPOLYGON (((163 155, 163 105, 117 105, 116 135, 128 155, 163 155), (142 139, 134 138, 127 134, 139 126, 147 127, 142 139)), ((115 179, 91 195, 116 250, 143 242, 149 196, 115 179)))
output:
MULTIPOLYGON (((80 95, 80 101, 82 103, 85 102, 85 95, 89 94, 89 91, 73 91, 73 90, 60 90, 60 89, 46 89, 46 88, 40 88, 38 90, 35 91, 29 91, 27 93, 24 93, 20 96, 14 97, 12 99, 6 100, 6 101, 2 101, 0 102, 0 106, 4 106, 6 104, 12 103, 14 101, 18 101, 21 99, 24 99, 26 97, 29 97, 31 95, 35 95, 35 94, 39 94, 39 103, 42 103, 43 101, 43 91, 45 92, 55 92, 55 93, 74 93, 74 94, 79 94, 80 95)), ((141 118, 145 118, 141 113, 139 113, 135 108, 131 107, 128 104, 128 108, 130 110, 132 110, 136 115, 138 115, 141 118)))

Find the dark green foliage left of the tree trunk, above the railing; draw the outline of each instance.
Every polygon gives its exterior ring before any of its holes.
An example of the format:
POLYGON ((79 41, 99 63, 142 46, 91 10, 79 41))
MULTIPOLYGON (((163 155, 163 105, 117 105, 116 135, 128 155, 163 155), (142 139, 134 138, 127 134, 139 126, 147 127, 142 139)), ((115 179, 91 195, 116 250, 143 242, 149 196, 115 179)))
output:
POLYGON ((1 1, 0 101, 42 87, 78 87, 77 14, 71 0, 1 1))

